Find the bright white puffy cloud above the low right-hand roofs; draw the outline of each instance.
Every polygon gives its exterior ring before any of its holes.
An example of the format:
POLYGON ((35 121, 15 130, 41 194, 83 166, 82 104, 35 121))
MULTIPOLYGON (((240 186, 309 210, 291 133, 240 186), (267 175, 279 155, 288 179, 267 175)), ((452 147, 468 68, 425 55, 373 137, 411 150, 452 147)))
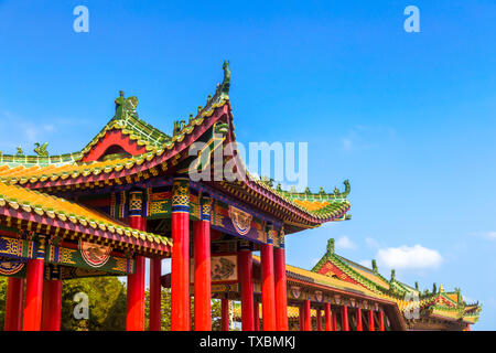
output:
POLYGON ((419 244, 414 246, 388 247, 377 252, 377 263, 380 266, 396 269, 434 268, 441 265, 443 258, 436 250, 419 244))

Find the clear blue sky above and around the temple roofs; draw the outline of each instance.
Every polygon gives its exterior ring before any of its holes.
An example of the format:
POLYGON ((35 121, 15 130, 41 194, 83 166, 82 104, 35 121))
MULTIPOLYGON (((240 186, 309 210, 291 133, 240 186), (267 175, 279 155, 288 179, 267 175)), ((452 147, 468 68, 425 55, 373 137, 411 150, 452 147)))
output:
POLYGON ((309 142, 312 190, 352 183, 353 220, 289 236, 288 263, 311 268, 335 237, 389 276, 398 248, 398 279, 460 287, 493 330, 495 17, 492 0, 0 0, 0 150, 79 150, 119 89, 171 131, 229 58, 238 140, 309 142), (73 31, 78 4, 88 33, 73 31), (420 33, 403 30, 409 4, 420 33))

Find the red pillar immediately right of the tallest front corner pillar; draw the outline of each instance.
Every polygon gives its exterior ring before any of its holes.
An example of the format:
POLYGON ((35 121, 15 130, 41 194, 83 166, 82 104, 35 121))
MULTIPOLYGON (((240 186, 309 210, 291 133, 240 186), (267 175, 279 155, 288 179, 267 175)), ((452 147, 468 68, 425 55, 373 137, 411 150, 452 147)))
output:
POLYGON ((212 200, 201 197, 201 220, 193 225, 195 257, 195 331, 212 331, 211 289, 212 200))

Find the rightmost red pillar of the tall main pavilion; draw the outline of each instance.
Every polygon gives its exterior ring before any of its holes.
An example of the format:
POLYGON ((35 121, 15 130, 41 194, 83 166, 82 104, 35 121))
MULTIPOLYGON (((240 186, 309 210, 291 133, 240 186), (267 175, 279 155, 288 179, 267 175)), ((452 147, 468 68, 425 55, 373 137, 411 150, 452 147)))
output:
MULTIPOLYGON (((281 231, 282 232, 282 231, 281 231)), ((273 261, 276 271, 276 329, 288 331, 288 289, 285 278, 285 249, 284 235, 281 235, 282 244, 273 249, 273 261)))

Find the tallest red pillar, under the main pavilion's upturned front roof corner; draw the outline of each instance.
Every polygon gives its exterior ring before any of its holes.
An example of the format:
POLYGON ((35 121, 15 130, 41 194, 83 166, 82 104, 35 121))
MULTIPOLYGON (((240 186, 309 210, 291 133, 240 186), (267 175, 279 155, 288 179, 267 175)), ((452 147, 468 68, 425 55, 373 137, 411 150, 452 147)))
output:
POLYGON ((190 180, 172 185, 171 330, 190 331, 190 180))

